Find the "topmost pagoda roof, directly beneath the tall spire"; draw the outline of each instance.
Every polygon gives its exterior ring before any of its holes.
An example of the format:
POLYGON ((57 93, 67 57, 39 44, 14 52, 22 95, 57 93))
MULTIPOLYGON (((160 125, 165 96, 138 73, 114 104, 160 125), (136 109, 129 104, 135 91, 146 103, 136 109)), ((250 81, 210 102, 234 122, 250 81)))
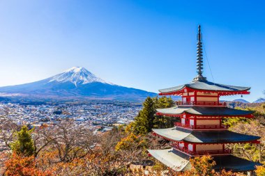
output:
POLYGON ((229 86, 220 83, 213 83, 210 81, 192 81, 191 83, 186 83, 181 86, 160 89, 159 92, 160 95, 167 95, 170 93, 178 94, 177 92, 183 90, 184 88, 191 88, 195 90, 204 90, 204 91, 208 90, 209 92, 243 92, 250 90, 250 87, 229 86))

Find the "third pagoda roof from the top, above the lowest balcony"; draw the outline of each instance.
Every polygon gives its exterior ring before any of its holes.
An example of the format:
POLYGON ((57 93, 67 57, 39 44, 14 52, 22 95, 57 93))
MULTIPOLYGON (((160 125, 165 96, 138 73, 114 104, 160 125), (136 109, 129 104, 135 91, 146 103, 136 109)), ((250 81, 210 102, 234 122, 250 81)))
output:
POLYGON ((180 127, 153 129, 153 132, 170 141, 189 143, 245 143, 257 141, 260 138, 259 136, 239 134, 229 130, 194 131, 180 127))

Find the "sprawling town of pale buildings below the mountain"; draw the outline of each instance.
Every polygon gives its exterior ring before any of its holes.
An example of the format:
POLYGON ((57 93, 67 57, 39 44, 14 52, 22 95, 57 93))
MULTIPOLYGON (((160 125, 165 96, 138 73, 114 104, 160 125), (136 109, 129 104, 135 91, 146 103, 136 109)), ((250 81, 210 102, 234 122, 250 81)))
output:
MULTIPOLYGON (((109 127, 112 124, 128 124, 142 108, 139 104, 126 102, 123 106, 116 103, 91 104, 0 104, 0 115, 7 115, 17 125, 38 127, 43 124, 52 125, 62 119, 71 118, 77 125, 97 130, 100 127, 109 127), (126 106, 124 106, 126 105, 126 106)), ((105 128, 105 131, 109 128, 105 128)))

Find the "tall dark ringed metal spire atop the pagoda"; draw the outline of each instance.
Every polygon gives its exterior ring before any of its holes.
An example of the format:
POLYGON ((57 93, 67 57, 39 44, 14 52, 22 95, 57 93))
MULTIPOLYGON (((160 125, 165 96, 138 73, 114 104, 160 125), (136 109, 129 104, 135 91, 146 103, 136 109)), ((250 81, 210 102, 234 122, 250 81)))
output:
POLYGON ((193 79, 193 81, 206 81, 206 77, 202 76, 203 72, 203 58, 202 58, 202 33, 201 33, 201 25, 198 26, 197 33, 197 77, 193 79))

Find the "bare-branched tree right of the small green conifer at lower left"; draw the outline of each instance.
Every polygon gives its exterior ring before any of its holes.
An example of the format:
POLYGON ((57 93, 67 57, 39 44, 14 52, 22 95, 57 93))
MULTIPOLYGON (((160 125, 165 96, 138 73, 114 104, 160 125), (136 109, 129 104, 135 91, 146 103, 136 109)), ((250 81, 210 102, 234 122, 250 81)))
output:
POLYGON ((36 147, 55 150, 59 161, 69 162, 85 157, 91 152, 98 138, 86 127, 75 125, 73 120, 62 120, 54 126, 47 127, 34 134, 36 147))

